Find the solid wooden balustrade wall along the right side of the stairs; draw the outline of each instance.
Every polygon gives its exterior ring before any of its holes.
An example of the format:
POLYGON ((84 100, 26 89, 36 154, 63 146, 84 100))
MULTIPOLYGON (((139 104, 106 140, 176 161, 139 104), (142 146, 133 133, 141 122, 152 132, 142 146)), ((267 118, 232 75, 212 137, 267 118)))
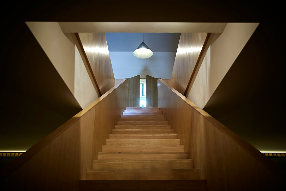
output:
POLYGON ((158 107, 177 133, 208 190, 265 190, 282 186, 271 159, 158 79, 158 107))

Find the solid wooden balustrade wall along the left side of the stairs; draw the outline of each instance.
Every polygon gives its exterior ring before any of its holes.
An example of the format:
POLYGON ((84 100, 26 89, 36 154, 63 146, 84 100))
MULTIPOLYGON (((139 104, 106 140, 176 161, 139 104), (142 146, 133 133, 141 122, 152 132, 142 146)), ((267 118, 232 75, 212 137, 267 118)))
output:
POLYGON ((124 80, 11 162, 0 172, 1 189, 78 190, 126 108, 127 92, 124 80))

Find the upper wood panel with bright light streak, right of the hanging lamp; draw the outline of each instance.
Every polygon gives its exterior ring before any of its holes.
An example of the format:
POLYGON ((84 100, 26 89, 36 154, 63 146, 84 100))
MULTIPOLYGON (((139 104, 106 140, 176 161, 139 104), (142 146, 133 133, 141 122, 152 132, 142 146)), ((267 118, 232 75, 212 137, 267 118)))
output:
POLYGON ((181 94, 187 90, 207 33, 181 33, 173 66, 172 87, 181 94))

